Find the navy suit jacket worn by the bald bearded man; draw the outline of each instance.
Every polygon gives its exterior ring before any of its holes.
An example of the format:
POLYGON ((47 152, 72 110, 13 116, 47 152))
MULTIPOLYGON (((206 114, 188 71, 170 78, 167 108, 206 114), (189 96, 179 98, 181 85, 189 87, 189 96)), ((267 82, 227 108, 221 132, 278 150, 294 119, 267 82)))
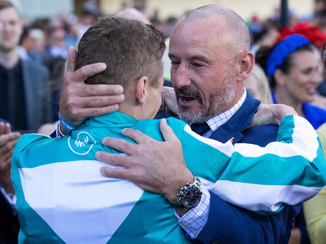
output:
MULTIPOLYGON (((211 135, 211 139, 265 146, 275 141, 278 126, 268 124, 245 128, 251 124, 260 101, 247 93, 246 100, 231 119, 211 135)), ((251 216, 240 207, 225 202, 211 192, 208 222, 194 243, 288 243, 293 219, 301 204, 285 206, 272 216, 251 216)))

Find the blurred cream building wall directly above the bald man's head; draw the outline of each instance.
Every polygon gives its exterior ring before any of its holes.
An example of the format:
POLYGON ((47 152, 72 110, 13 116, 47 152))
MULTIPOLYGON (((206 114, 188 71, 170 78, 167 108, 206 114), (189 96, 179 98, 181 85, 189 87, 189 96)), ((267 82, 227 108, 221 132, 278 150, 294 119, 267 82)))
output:
MULTIPOLYGON (((186 12, 203 5, 219 4, 237 12, 243 19, 253 14, 260 18, 271 16, 273 10, 280 7, 281 0, 98 0, 101 11, 113 15, 123 7, 136 7, 151 16, 156 10, 159 18, 181 17, 186 12)), ((288 0, 289 9, 298 16, 305 16, 313 10, 313 0, 288 0)))

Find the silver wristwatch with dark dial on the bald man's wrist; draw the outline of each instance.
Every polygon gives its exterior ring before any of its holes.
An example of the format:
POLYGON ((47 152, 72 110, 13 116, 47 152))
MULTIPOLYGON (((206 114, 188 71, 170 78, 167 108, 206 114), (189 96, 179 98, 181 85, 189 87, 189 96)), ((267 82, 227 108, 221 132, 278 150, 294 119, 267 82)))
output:
POLYGON ((199 178, 194 174, 193 183, 186 183, 184 187, 180 188, 178 199, 176 202, 170 202, 171 206, 176 210, 188 211, 194 208, 200 202, 202 197, 203 187, 199 178))

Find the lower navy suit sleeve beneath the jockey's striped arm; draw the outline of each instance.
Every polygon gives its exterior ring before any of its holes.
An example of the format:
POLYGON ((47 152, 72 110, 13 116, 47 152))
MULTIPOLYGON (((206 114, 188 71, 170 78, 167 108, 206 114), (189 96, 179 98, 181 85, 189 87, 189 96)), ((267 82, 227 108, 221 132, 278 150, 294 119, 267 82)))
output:
POLYGON ((287 243, 294 216, 301 206, 285 206, 270 216, 251 216, 246 210, 211 193, 207 224, 193 243, 287 243))

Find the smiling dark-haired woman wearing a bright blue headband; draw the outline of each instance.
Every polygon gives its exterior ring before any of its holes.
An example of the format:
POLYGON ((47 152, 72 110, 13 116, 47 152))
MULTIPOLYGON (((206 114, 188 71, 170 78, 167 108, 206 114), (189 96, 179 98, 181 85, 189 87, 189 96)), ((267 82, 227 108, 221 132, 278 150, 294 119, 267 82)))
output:
POLYGON ((326 122, 326 110, 309 104, 322 81, 323 65, 319 50, 305 37, 292 34, 273 48, 262 48, 256 62, 269 78, 273 103, 293 107, 315 129, 326 122))

